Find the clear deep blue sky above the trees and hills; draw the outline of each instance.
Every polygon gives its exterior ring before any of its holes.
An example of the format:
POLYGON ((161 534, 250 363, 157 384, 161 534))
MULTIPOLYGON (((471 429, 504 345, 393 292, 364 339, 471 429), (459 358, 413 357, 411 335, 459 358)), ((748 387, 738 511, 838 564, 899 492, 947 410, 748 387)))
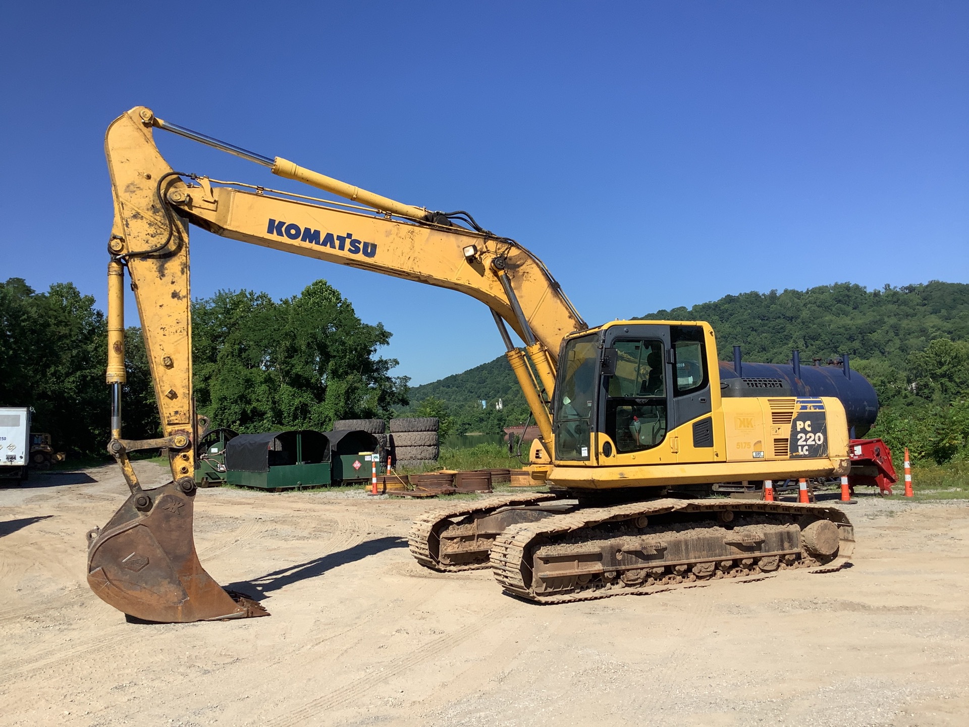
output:
MULTIPOLYGON (((593 325, 749 290, 969 282, 964 2, 0 13, 0 279, 38 290, 70 280, 104 305, 104 132, 138 105, 402 202, 467 209, 536 252, 593 325)), ((175 169, 287 184, 156 139, 175 169)), ((502 352, 485 307, 451 291, 198 230, 192 260, 197 297, 281 298, 326 278, 393 332, 382 353, 413 383, 502 352)))

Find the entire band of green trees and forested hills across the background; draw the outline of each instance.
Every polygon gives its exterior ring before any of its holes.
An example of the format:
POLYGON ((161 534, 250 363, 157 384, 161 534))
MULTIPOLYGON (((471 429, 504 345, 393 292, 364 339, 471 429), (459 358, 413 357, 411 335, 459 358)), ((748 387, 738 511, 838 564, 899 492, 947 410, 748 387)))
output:
MULTIPOLYGON (((735 344, 747 361, 784 363, 852 356, 875 385, 882 411, 873 434, 916 459, 969 458, 969 285, 930 282, 868 291, 838 283, 807 291, 744 293, 643 319, 709 321, 720 355, 735 344)), ((242 431, 327 428, 335 418, 419 412, 442 431, 497 433, 522 424, 524 398, 504 356, 410 390, 377 356, 390 339, 359 320, 325 281, 271 300, 250 291, 196 300, 196 395, 213 425, 242 431), (501 400, 502 409, 495 407, 501 400), (485 401, 485 407, 482 406, 485 401)), ((71 283, 37 293, 0 283, 0 405, 33 406, 35 430, 75 454, 108 439, 105 319, 71 283)), ((127 334, 125 434, 157 431, 141 332, 127 334)))

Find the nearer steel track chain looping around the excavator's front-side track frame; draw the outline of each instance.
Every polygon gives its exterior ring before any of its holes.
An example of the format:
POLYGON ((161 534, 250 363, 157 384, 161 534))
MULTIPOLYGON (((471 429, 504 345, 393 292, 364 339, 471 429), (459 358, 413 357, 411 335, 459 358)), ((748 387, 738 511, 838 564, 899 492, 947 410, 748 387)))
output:
MULTIPOLYGON (((495 580, 502 585, 508 593, 527 599, 532 603, 556 604, 570 603, 574 601, 592 601, 600 598, 610 598, 622 595, 648 595, 650 593, 660 593, 674 588, 699 587, 711 585, 720 581, 731 581, 733 583, 744 583, 750 581, 762 581, 772 578, 777 571, 771 573, 761 572, 759 568, 745 569, 735 568, 722 579, 704 579, 698 581, 681 580, 679 583, 661 583, 656 585, 640 587, 589 587, 587 590, 575 593, 560 593, 555 595, 538 595, 532 592, 530 585, 526 585, 522 578, 522 571, 526 569, 526 553, 529 553, 530 544, 538 537, 549 537, 572 532, 584 527, 592 527, 603 522, 615 522, 631 520, 641 515, 646 517, 663 515, 670 512, 696 513, 696 512, 719 512, 724 510, 764 513, 764 514, 788 514, 788 515, 821 515, 832 522, 840 522, 850 525, 848 518, 837 508, 830 508, 824 505, 802 505, 786 503, 766 503, 766 502, 737 502, 723 501, 715 502, 710 500, 654 500, 652 502, 637 502, 625 505, 616 505, 606 508, 588 508, 579 510, 568 515, 552 516, 538 522, 522 522, 512 525, 499 535, 491 547, 491 569, 495 580)), ((840 530, 840 528, 839 528, 840 530)), ((814 566, 789 566, 787 569, 804 568, 809 573, 833 573, 840 570, 848 561, 848 557, 854 548, 854 541, 842 539, 841 548, 838 556, 824 565, 815 563, 814 566)), ((527 567, 530 572, 531 568, 527 567)))

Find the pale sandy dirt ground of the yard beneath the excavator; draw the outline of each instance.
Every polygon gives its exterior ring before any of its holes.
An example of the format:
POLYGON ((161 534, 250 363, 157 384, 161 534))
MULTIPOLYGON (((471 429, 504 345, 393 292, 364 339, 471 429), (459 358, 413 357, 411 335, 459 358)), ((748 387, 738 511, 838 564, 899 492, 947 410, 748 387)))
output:
POLYGON ((84 582, 125 493, 113 466, 0 490, 0 725, 969 722, 967 502, 846 506, 834 574, 534 606, 412 560, 434 501, 201 490, 204 566, 272 616, 143 625, 84 582))

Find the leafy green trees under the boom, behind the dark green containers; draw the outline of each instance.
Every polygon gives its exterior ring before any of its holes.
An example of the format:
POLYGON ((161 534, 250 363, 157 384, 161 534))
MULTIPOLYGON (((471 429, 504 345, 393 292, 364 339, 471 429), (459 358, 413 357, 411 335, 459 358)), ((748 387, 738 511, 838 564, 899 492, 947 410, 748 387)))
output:
POLYGON ((325 280, 278 302, 220 291, 195 301, 192 325, 196 396, 214 425, 328 429, 408 400, 406 377, 390 375, 397 362, 375 355, 391 333, 361 322, 325 280))

